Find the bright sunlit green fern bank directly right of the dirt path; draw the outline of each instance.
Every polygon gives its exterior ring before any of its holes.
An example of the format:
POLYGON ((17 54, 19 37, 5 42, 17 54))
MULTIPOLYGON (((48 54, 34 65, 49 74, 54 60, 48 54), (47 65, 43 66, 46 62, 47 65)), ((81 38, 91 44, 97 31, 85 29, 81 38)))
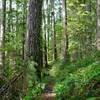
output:
POLYGON ((88 97, 97 96, 99 93, 97 84, 100 84, 100 63, 94 62, 62 77, 66 78, 59 80, 54 87, 57 100, 85 100, 88 97))

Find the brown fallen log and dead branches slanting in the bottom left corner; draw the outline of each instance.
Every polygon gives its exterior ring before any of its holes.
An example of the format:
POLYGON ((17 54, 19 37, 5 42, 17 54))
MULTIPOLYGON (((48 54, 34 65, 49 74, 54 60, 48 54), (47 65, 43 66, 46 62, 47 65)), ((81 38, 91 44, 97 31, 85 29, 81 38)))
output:
POLYGON ((17 90, 22 91, 22 86, 21 89, 19 87, 20 85, 23 85, 23 78, 24 74, 23 72, 20 72, 19 74, 14 75, 14 77, 10 79, 7 83, 5 83, 0 88, 0 98, 2 98, 1 100, 5 100, 6 98, 11 97, 11 94, 14 94, 14 92, 16 92, 17 90))

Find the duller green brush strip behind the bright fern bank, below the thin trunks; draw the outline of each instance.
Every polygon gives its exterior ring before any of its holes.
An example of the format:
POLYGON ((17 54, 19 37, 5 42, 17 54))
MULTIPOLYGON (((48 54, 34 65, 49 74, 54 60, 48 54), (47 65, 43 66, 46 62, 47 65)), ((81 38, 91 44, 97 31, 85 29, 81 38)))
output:
POLYGON ((88 65, 95 62, 96 57, 86 57, 84 59, 78 59, 76 62, 66 63, 63 59, 59 59, 57 62, 52 64, 52 69, 50 70, 50 75, 56 77, 57 79, 66 78, 69 73, 74 73, 80 68, 87 67, 88 65))

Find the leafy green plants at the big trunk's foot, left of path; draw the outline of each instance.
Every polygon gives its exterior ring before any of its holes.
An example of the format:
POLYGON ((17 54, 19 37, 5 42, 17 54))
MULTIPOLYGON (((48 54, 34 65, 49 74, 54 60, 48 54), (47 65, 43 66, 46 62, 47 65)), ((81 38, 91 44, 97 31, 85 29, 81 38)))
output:
POLYGON ((45 88, 45 84, 37 79, 36 69, 34 65, 37 65, 34 61, 28 61, 28 66, 26 69, 27 81, 28 81, 28 91, 27 95, 23 100, 32 100, 40 96, 45 88))

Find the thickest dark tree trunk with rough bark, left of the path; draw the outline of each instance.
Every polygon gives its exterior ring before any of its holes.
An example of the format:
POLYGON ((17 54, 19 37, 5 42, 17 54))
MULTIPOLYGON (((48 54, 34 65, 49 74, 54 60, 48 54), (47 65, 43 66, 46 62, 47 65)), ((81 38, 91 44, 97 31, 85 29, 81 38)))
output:
POLYGON ((38 78, 41 78, 43 66, 41 21, 42 0, 30 0, 28 16, 28 57, 36 62, 35 68, 38 78))

